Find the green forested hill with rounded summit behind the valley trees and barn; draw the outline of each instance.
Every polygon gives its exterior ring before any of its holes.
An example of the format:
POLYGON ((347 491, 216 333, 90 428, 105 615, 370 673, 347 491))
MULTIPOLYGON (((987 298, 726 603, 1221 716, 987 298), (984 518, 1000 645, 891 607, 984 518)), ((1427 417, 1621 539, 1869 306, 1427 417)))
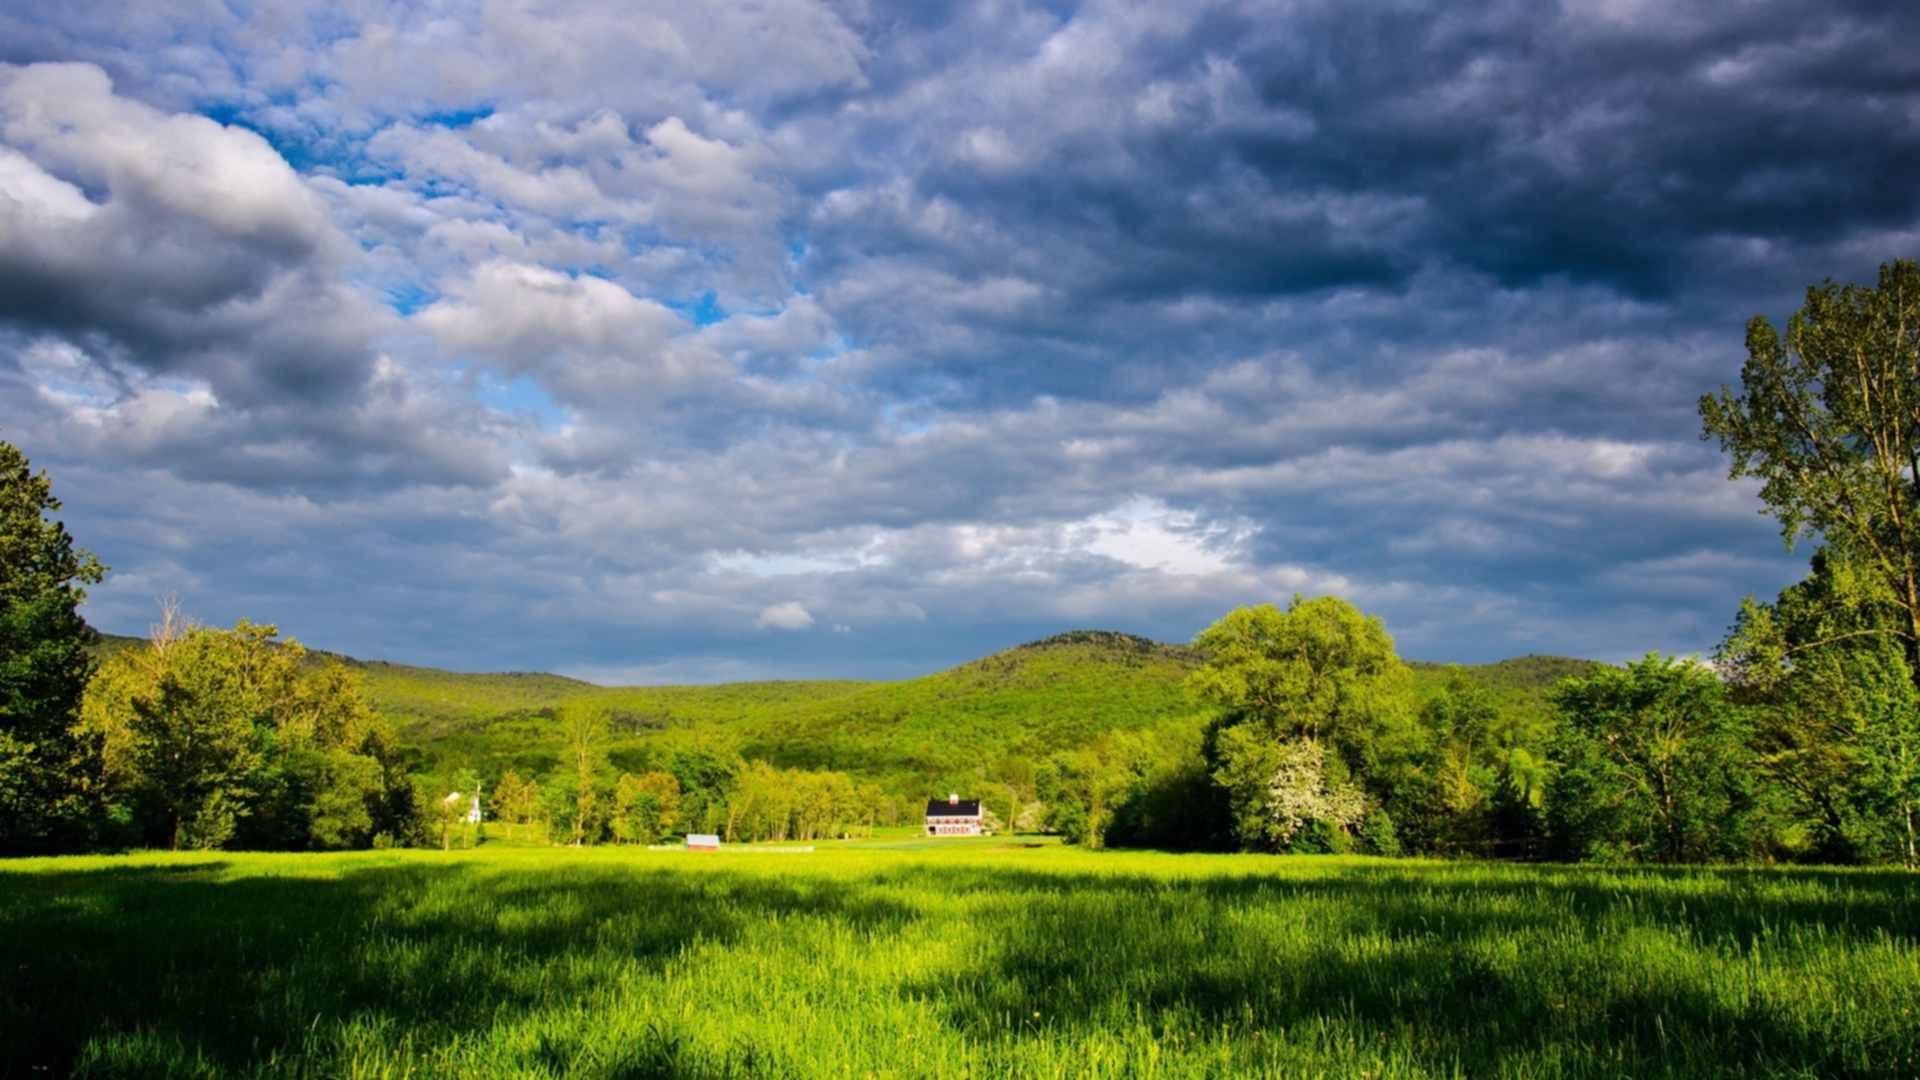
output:
MULTIPOLYGON (((108 636, 104 650, 138 644, 108 636)), ((323 653, 324 655, 324 653, 323 653)), ((417 748, 422 769, 516 769, 561 759, 557 709, 605 709, 612 763, 645 769, 687 744, 720 744, 783 767, 839 769, 889 788, 960 782, 1010 757, 1037 761, 1100 732, 1188 717, 1181 682, 1198 663, 1185 646, 1110 630, 1071 630, 902 682, 733 682, 603 688, 559 675, 457 675, 342 657, 417 748)), ((1546 692, 1590 661, 1521 657, 1463 667, 1503 711, 1540 711, 1546 692)), ((1415 663, 1436 690, 1453 671, 1415 663)))

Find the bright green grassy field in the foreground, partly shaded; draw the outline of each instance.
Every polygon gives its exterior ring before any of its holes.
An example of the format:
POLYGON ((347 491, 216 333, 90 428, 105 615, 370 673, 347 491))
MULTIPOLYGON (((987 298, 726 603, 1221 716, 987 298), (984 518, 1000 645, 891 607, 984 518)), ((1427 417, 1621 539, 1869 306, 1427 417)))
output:
POLYGON ((1920 876, 1089 853, 0 863, 0 1070, 1912 1076, 1920 876))

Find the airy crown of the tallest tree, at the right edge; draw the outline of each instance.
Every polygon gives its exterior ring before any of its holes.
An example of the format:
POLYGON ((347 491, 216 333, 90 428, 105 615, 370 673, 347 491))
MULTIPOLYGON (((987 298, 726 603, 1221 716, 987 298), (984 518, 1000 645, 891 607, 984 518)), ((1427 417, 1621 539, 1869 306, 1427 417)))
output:
POLYGON ((1901 640, 1920 678, 1920 265, 1809 288, 1784 338, 1755 315, 1740 382, 1699 400, 1701 438, 1761 479, 1789 548, 1824 536, 1885 584, 1901 617, 1866 632, 1901 640))

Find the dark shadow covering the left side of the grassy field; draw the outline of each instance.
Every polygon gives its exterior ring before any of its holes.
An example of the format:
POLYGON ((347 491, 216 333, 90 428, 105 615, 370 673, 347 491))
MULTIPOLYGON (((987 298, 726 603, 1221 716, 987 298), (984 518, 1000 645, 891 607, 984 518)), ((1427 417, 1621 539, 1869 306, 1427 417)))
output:
MULTIPOLYGON (((728 872, 501 872, 470 863, 361 867, 336 878, 225 871, 196 863, 0 880, 0 1076, 65 1074, 88 1040, 129 1032, 180 1047, 169 1068, 182 1057, 215 1070, 284 1061, 309 1030, 348 1020, 432 1045, 776 919, 897 932, 916 917, 835 880, 728 872), (563 963, 574 959, 591 963, 563 963)), ((674 1072, 674 1040, 657 1042, 624 1072, 674 1072)), ((566 1047, 540 1053, 553 1059, 540 1065, 566 1070, 566 1047)))

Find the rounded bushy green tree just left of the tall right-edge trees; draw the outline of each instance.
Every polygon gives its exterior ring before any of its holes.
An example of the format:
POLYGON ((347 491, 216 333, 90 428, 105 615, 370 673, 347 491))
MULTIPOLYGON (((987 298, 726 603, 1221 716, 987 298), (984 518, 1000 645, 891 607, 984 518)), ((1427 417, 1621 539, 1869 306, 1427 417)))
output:
POLYGON ((1553 703, 1567 721, 1549 788, 1563 855, 1753 853, 1745 717, 1713 671, 1647 653, 1561 682, 1553 703))

